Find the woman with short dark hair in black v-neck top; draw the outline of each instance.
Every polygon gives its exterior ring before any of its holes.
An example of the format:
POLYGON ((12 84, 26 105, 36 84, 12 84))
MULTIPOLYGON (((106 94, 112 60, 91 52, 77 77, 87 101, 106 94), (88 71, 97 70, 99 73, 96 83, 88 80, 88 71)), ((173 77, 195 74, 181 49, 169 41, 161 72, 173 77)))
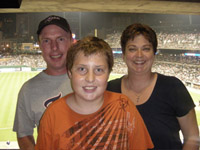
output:
POLYGON ((128 74, 110 81, 107 89, 136 104, 155 149, 198 150, 199 130, 189 92, 178 78, 151 71, 157 51, 155 31, 132 24, 122 33, 121 47, 128 74))

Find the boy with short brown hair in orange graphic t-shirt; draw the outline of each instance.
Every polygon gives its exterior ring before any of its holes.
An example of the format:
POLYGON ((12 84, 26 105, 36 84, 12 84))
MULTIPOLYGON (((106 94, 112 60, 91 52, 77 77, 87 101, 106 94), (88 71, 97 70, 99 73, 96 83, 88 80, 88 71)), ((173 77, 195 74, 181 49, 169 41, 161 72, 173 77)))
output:
POLYGON ((131 100, 105 91, 112 66, 112 49, 102 39, 86 37, 70 47, 67 68, 74 93, 45 111, 36 150, 153 148, 131 100))

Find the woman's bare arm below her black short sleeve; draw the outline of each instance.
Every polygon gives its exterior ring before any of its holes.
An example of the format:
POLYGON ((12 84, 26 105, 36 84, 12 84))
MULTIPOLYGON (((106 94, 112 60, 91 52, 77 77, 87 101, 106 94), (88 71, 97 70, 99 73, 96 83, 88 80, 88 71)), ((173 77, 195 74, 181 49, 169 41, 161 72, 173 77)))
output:
POLYGON ((183 150, 199 150, 199 129, 197 125, 195 110, 178 118, 181 131, 184 137, 183 150))

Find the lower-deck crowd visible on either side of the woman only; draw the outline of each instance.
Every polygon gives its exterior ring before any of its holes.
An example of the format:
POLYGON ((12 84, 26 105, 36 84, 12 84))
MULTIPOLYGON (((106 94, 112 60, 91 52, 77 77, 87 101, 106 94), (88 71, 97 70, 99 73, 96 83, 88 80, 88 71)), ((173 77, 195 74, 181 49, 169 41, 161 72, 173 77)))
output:
MULTIPOLYGON (((200 57, 170 55, 156 55, 156 60, 153 65, 153 71, 169 76, 176 76, 182 80, 187 86, 200 88, 200 57), (181 60, 181 61, 178 61, 181 60)), ((115 63, 113 73, 126 74, 126 65, 120 54, 115 54, 115 63)))

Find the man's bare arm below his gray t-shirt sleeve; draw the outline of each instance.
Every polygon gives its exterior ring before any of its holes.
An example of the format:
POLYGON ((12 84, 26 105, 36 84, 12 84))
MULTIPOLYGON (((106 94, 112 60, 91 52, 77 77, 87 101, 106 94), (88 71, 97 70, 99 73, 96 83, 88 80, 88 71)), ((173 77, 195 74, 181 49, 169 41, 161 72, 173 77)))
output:
POLYGON ((17 138, 20 150, 34 150, 35 140, 32 135, 17 138))

